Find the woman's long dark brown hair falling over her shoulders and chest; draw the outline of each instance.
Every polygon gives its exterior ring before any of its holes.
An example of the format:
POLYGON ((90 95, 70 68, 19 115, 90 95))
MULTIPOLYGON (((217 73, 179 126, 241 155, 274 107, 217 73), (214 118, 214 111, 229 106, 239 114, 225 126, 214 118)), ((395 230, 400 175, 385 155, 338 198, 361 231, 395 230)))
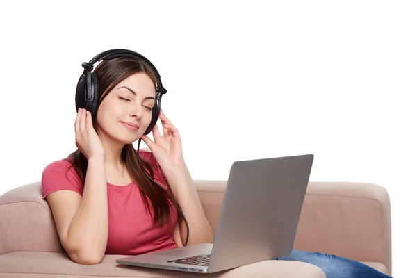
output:
MULTIPOLYGON (((152 70, 152 67, 139 58, 121 57, 114 58, 112 60, 104 60, 97 65, 93 72, 97 75, 97 79, 99 81, 99 103, 97 105, 95 115, 92 117, 92 125, 94 126, 96 132, 99 132, 97 131, 97 111, 99 110, 101 101, 103 101, 104 97, 106 97, 117 84, 132 74, 136 74, 138 72, 145 72, 149 78, 152 79, 154 85, 157 81, 156 74, 152 70)), ((67 156, 67 158, 70 158, 68 160, 72 163, 81 184, 84 186, 88 166, 87 158, 85 158, 79 149, 67 156)), ((120 155, 120 161, 123 165, 126 165, 130 176, 133 177, 133 180, 138 184, 142 199, 145 200, 145 207, 152 215, 154 224, 163 226, 163 224, 171 222, 171 209, 175 209, 177 211, 178 220, 181 220, 178 204, 175 202, 170 191, 157 186, 152 183, 152 181, 149 181, 145 173, 142 172, 133 144, 124 145, 122 154, 120 155)), ((145 161, 142 157, 140 157, 140 163, 145 170, 148 170, 150 177, 154 179, 154 170, 152 169, 150 163, 145 161)))

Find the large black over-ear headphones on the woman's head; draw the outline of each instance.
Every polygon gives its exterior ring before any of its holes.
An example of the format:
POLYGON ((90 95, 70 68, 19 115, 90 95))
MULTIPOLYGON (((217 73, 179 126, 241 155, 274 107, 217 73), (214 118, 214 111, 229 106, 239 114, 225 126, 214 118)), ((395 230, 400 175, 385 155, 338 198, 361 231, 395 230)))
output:
POLYGON ((101 52, 94 56, 90 60, 90 62, 84 62, 83 68, 84 72, 81 74, 78 84, 76 85, 76 92, 75 92, 75 106, 76 111, 78 108, 85 108, 86 110, 91 112, 91 115, 94 116, 97 110, 97 105, 99 104, 99 81, 97 76, 94 72, 92 72, 93 65, 101 60, 111 60, 114 58, 119 57, 130 57, 130 58, 139 58, 145 60, 145 62, 152 67, 156 74, 156 98, 154 107, 152 107, 152 120, 151 124, 149 124, 147 130, 145 131, 145 135, 154 129, 156 122, 158 121, 159 111, 161 111, 161 98, 163 94, 166 94, 167 90, 163 88, 161 82, 161 76, 156 70, 156 67, 151 63, 150 60, 138 54, 135 51, 131 51, 128 49, 111 49, 108 51, 101 52))

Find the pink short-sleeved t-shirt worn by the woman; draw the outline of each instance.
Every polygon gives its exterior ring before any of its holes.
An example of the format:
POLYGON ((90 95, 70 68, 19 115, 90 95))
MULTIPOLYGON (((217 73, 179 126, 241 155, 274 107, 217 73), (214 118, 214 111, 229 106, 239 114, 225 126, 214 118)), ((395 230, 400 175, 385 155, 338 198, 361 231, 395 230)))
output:
MULTIPOLYGON (((154 180, 167 188, 165 176, 152 152, 139 152, 151 163, 154 180)), ((151 177, 148 171, 147 174, 151 177)), ((42 173, 42 197, 46 198, 58 190, 72 190, 83 195, 83 187, 70 161, 54 161, 42 173), (67 170, 68 167, 70 170, 67 170)), ((171 209, 171 224, 154 226, 135 181, 126 186, 107 183, 107 197, 108 240, 105 254, 137 255, 177 247, 172 238, 177 213, 171 209)))

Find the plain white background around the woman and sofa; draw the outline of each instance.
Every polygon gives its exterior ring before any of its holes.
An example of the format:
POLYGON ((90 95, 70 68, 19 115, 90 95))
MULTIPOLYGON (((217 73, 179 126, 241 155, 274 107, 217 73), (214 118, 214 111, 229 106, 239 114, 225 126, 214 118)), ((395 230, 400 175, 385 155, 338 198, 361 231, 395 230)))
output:
POLYGON ((0 194, 76 149, 81 63, 132 49, 161 73, 193 179, 314 154, 311 181, 389 191, 393 276, 413 276, 416 2, 149 2, 0 4, 0 194))

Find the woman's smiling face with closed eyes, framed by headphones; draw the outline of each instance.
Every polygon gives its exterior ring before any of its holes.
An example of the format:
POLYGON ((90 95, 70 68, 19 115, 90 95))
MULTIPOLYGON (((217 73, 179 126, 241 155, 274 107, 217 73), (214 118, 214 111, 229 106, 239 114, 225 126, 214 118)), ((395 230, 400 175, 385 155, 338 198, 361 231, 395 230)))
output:
POLYGON ((155 95, 154 83, 144 72, 117 84, 97 111, 100 135, 123 144, 138 140, 151 123, 155 95))

